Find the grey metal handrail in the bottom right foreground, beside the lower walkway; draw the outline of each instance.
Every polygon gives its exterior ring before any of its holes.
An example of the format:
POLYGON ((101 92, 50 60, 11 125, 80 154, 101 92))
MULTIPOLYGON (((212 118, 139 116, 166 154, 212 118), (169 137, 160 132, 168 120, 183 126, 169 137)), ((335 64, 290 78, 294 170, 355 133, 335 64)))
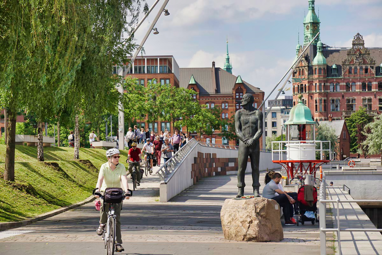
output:
POLYGON ((382 232, 382 229, 370 228, 370 229, 351 229, 351 228, 340 228, 340 203, 364 203, 364 202, 374 202, 382 203, 382 200, 325 200, 326 198, 326 184, 325 184, 325 172, 322 171, 322 181, 320 184, 320 195, 319 195, 319 219, 320 219, 320 253, 321 255, 326 255, 326 232, 337 232, 338 238, 338 254, 342 255, 341 251, 341 232, 382 232), (326 228, 326 203, 337 203, 337 228, 326 228))

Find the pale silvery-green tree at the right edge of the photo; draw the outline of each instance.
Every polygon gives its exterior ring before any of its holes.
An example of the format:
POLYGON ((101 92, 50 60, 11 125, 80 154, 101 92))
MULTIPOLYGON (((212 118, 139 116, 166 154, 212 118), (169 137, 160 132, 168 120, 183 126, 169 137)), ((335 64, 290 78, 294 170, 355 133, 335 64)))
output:
POLYGON ((380 116, 374 117, 374 122, 370 122, 364 127, 364 135, 366 135, 366 140, 363 145, 369 146, 369 154, 382 153, 382 118, 380 116))

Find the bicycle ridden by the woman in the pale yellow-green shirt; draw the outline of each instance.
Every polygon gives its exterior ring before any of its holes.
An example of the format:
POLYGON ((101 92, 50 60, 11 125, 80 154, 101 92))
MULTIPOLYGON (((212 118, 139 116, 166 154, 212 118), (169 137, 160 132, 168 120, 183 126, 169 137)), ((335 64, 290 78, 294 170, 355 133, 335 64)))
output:
MULTIPOLYGON (((104 201, 104 208, 105 208, 105 196, 102 195, 100 192, 95 192, 98 188, 95 188, 93 190, 93 195, 99 196, 104 201)), ((129 197, 133 195, 133 192, 131 190, 128 190, 130 192, 129 197)), ((125 199, 125 196, 122 196, 122 201, 125 199)), ((121 201, 121 206, 122 206, 121 201)), ((113 203, 109 204, 109 211, 107 212, 107 225, 104 228, 104 233, 102 234, 102 240, 105 242, 105 249, 106 249, 106 255, 114 255, 115 252, 115 230, 117 228, 117 216, 115 215, 115 205, 113 203)), ((122 208, 121 208, 122 210, 122 208)))

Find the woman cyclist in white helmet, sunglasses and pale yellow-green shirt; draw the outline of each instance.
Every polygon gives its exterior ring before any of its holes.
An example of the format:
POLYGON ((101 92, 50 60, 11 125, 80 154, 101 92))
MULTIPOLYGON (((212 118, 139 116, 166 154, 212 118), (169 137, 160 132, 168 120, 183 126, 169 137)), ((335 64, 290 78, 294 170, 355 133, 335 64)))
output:
MULTIPOLYGON (((100 192, 105 192, 106 188, 121 188, 121 181, 123 188, 125 189, 125 196, 126 199, 129 199, 129 192, 128 188, 129 185, 127 183, 127 177, 126 177, 126 168, 123 164, 119 163, 119 156, 120 151, 118 149, 109 149, 106 151, 106 157, 107 162, 102 164, 101 168, 99 169, 99 175, 98 175, 98 181, 96 188, 100 192)), ((99 196, 95 195, 96 198, 99 198, 99 196)), ((115 250, 118 252, 122 252, 125 249, 122 247, 122 239, 121 239, 121 203, 115 204, 115 215, 117 216, 117 227, 116 227, 116 237, 117 242, 115 244, 115 250)), ((104 232, 104 228, 107 223, 107 212, 109 210, 109 204, 103 203, 101 201, 101 208, 100 208, 100 225, 97 229, 97 235, 102 236, 104 232)))

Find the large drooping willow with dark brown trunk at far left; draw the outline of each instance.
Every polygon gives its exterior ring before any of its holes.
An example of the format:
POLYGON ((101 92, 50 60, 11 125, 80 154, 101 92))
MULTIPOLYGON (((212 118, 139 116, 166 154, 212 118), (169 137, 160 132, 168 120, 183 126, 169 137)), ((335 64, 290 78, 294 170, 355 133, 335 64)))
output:
MULTIPOLYGON (((65 93, 56 88, 67 87, 81 65, 86 46, 86 34, 81 28, 89 26, 83 2, 86 1, 0 3, 0 93, 9 117, 6 180, 14 181, 16 113, 40 109, 40 122, 51 117, 57 109, 53 95, 60 97, 57 92, 65 93)), ((43 154, 40 156, 43 160, 43 154)))

